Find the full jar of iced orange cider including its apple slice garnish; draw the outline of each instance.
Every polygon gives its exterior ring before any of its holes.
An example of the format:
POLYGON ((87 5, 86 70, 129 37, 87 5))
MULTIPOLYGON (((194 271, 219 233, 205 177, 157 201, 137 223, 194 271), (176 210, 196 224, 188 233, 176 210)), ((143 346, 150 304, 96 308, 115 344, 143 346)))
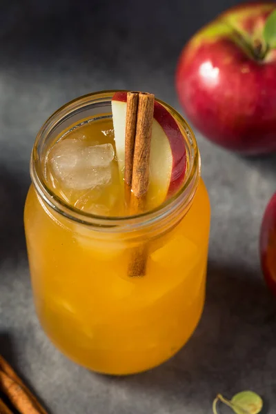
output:
POLYGON ((46 121, 24 217, 41 326, 75 362, 115 375, 174 355, 205 295, 210 205, 195 137, 175 110, 152 101, 148 166, 139 175, 140 96, 132 119, 127 93, 111 91, 76 99, 46 121), (139 210, 126 197, 134 124, 130 199, 139 210))

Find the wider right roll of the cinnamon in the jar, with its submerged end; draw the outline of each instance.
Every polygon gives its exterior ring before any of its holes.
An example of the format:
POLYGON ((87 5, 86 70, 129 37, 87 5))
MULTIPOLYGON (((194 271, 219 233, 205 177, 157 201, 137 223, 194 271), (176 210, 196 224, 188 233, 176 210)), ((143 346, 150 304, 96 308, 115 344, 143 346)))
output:
MULTIPOLYGON (((134 99, 132 93, 128 93, 128 100, 134 99)), ((139 92, 137 107, 137 123, 135 132, 134 154, 132 161, 132 180, 130 196, 130 212, 139 214, 146 207, 146 194, 149 185, 150 165, 150 141, 153 121, 153 108, 155 96, 149 93, 139 92)), ((128 103, 128 106, 130 103, 128 103)), ((127 111, 126 126, 132 124, 129 117, 135 119, 135 113, 127 111)), ((130 136, 130 135, 129 135, 130 136)), ((132 136, 132 135, 131 135, 132 136)), ((133 137, 132 137, 133 139, 133 137)), ((127 139, 126 139, 127 141, 127 139)), ((128 144, 129 145, 129 144, 128 144)), ((130 145, 133 146, 133 143, 130 145)), ((131 169, 131 161, 126 157, 126 169, 131 169)), ((131 251, 128 275, 130 277, 146 274, 147 248, 146 245, 138 246, 131 251)))

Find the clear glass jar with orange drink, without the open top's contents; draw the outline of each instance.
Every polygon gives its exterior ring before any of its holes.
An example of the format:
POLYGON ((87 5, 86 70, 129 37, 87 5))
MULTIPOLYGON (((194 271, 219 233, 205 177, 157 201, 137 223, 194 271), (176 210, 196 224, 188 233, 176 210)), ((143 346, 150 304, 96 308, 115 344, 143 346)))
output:
POLYGON ((112 117, 115 91, 71 101, 43 125, 32 150, 25 228, 37 315, 52 342, 100 373, 145 371, 174 355, 204 306, 210 204, 193 131, 170 106, 183 133, 183 186, 135 217, 100 217, 62 201, 45 178, 48 150, 84 118, 112 117), (129 277, 134 249, 147 246, 144 277, 129 277))

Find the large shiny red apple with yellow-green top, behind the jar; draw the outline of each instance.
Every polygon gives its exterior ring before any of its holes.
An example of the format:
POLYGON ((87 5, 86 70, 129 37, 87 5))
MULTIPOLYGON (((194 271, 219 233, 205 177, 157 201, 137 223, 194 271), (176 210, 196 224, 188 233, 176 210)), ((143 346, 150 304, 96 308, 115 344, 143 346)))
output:
POLYGON ((275 10, 268 1, 224 12, 188 42, 177 66, 190 121, 211 141, 244 154, 276 150, 275 10))

